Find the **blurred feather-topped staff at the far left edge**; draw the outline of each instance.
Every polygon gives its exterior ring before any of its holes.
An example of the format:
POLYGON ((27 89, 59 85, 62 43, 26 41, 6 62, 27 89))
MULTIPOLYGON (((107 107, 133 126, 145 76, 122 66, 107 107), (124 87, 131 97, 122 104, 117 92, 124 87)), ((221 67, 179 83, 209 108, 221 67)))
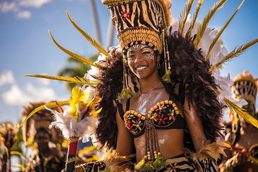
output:
POLYGON ((18 142, 18 131, 19 125, 14 126, 10 123, 3 123, 0 126, 0 142, 6 150, 7 153, 7 172, 11 172, 11 149, 18 142))

